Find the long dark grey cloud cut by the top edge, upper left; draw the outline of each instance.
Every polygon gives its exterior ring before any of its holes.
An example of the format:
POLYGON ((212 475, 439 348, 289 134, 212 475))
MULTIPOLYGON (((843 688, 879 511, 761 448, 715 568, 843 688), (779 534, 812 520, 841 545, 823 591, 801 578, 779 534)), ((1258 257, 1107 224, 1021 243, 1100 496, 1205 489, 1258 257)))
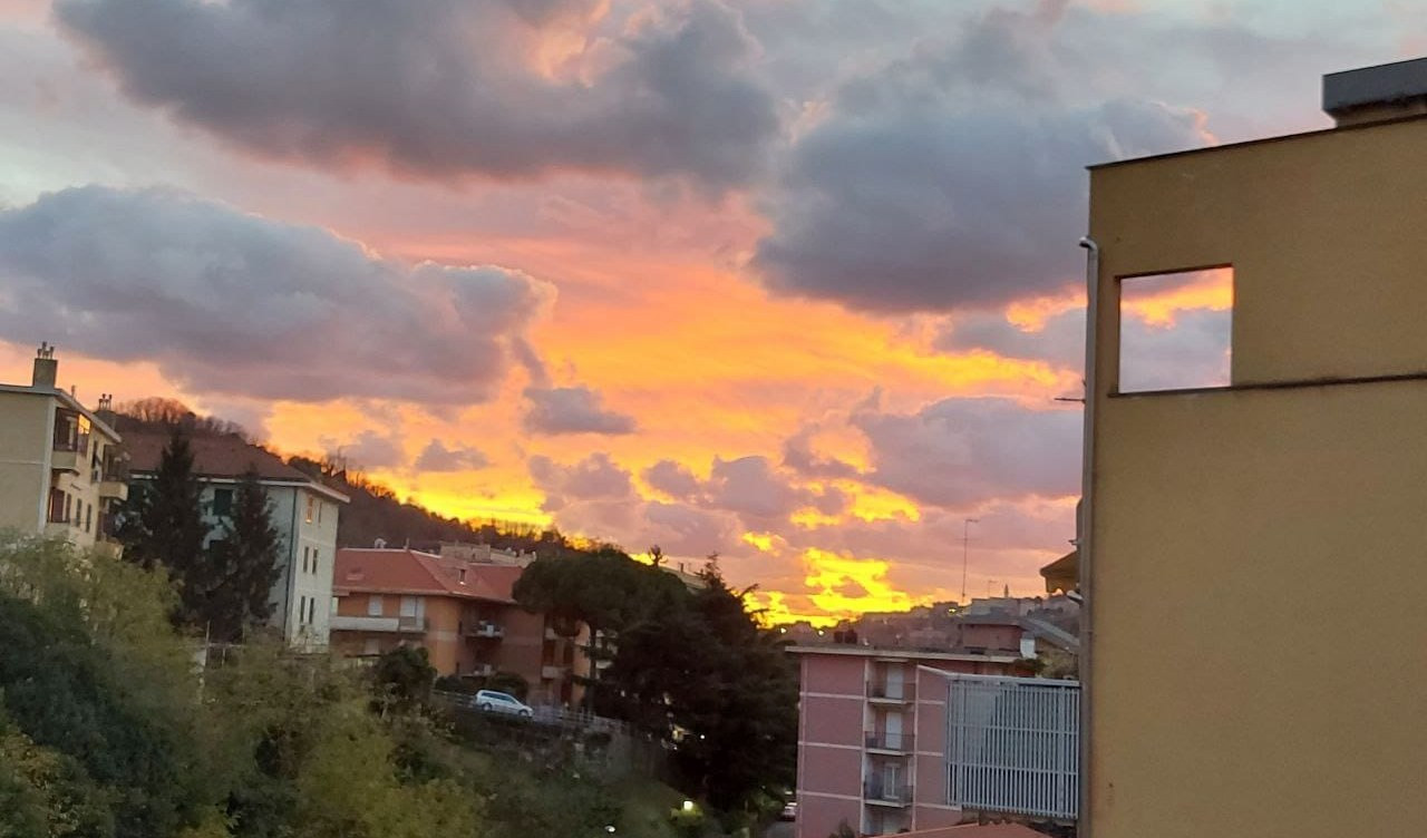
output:
POLYGON ((537 67, 589 0, 59 0, 64 29, 140 103, 240 148, 408 175, 552 170, 746 182, 779 131, 756 43, 718 0, 631 17, 537 67))

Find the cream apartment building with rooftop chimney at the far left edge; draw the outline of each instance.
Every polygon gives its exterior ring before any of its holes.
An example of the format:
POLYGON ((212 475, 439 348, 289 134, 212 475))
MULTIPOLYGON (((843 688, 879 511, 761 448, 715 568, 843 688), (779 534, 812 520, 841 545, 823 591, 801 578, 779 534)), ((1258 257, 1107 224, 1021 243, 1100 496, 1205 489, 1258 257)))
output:
POLYGON ((128 495, 118 433, 56 386, 40 346, 29 386, 0 385, 0 527, 107 544, 110 506, 128 495))

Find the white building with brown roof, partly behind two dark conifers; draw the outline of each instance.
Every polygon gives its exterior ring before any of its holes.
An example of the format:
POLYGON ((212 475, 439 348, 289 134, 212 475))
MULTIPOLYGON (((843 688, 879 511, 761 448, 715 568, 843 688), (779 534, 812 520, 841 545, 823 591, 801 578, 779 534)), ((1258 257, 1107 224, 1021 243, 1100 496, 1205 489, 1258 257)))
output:
MULTIPOLYGON (((167 432, 131 430, 126 435, 136 483, 153 479, 168 439, 167 432)), ((347 496, 234 433, 194 435, 188 443, 193 470, 203 486, 204 520, 210 527, 204 546, 223 537, 223 523, 233 509, 237 485, 248 469, 255 470, 281 540, 283 574, 273 586, 270 623, 295 648, 324 648, 332 601, 337 519, 348 502, 347 496)))

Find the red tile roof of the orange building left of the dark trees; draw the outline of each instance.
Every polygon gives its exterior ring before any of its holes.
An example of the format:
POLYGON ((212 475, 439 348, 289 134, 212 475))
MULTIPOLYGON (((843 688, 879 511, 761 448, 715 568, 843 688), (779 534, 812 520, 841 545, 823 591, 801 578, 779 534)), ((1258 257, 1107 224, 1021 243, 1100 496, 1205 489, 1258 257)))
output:
POLYGON ((342 547, 337 550, 332 567, 332 590, 450 596, 514 604, 511 587, 519 574, 519 567, 442 559, 417 550, 342 547), (461 570, 465 570, 465 583, 461 581, 461 570))

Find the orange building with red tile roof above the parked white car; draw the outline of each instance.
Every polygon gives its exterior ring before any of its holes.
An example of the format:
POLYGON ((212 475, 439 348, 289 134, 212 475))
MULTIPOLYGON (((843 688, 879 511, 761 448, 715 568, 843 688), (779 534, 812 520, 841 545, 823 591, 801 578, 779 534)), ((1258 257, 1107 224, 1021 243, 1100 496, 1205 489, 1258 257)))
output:
POLYGON ((420 646, 442 676, 517 674, 529 698, 575 705, 589 676, 588 631, 565 637, 544 614, 515 604, 524 567, 418 550, 337 552, 332 644, 371 657, 420 646))

